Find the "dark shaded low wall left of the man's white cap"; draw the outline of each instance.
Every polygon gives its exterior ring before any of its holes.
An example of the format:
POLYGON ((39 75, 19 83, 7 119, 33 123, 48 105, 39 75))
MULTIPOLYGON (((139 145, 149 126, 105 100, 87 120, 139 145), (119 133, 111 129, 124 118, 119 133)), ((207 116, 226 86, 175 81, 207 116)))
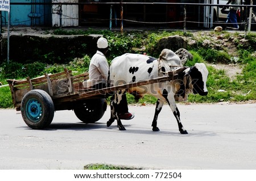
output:
MULTIPOLYGON (((15 62, 67 63, 71 58, 92 56, 102 35, 11 35, 9 59, 15 62)), ((1 41, 0 63, 7 58, 7 39, 1 41)))

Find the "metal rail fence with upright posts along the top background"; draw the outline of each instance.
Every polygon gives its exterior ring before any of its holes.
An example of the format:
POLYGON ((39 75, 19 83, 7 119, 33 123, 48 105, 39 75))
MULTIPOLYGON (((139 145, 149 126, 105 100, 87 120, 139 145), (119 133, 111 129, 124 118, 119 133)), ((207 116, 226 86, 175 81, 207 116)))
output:
MULTIPOLYGON (((120 22, 120 31, 123 31, 123 26, 125 22, 131 22, 131 23, 137 23, 137 24, 141 24, 142 26, 145 26, 145 24, 148 26, 159 26, 159 25, 167 25, 167 24, 172 24, 172 23, 181 23, 183 24, 183 31, 185 32, 187 30, 187 23, 195 23, 195 24, 204 24, 205 27, 211 27, 212 24, 214 24, 213 22, 213 18, 212 18, 212 13, 213 13, 213 7, 214 6, 220 6, 220 4, 209 4, 209 3, 168 3, 168 2, 77 2, 77 3, 68 3, 68 2, 52 2, 52 3, 39 3, 39 2, 31 2, 31 3, 10 3, 11 6, 15 6, 15 5, 24 5, 24 6, 28 6, 28 5, 50 5, 50 6, 55 6, 55 14, 59 15, 59 27, 63 27, 63 18, 68 18, 68 19, 77 19, 75 17, 71 17, 68 15, 63 14, 63 6, 84 6, 84 5, 108 5, 108 7, 110 7, 109 10, 109 17, 106 19, 101 19, 101 20, 108 20, 109 21, 109 28, 110 30, 112 29, 112 22, 113 21, 119 21, 120 22), (113 18, 113 13, 112 13, 112 7, 113 6, 119 6, 120 7, 120 18, 113 18), (124 5, 151 5, 151 6, 157 6, 157 5, 175 5, 175 6, 180 6, 183 7, 183 19, 179 20, 179 21, 170 21, 170 22, 148 22, 148 21, 142 21, 142 20, 133 20, 133 19, 125 19, 123 18, 123 14, 125 13, 123 6, 124 5), (204 21, 196 21, 196 20, 189 20, 188 16, 187 16, 187 9, 188 7, 191 6, 196 6, 197 8, 200 7, 208 7, 209 8, 209 12, 208 12, 208 19, 207 18, 203 18, 204 21)), ((243 21, 240 22, 243 24, 244 26, 244 30, 245 32, 250 31, 250 27, 251 25, 255 24, 255 22, 251 21, 251 16, 249 16, 250 10, 252 8, 255 8, 255 5, 221 5, 221 6, 225 6, 225 7, 229 7, 229 6, 239 6, 241 10, 243 10, 243 14, 245 14, 246 16, 243 17, 243 21)), ((218 12, 218 11, 217 11, 218 12)), ((251 13, 250 13, 251 14, 251 13)), ((1 18, 2 19, 2 18, 1 18)), ((218 24, 224 25, 227 24, 225 22, 218 22, 218 24)), ((230 24, 230 23, 228 23, 230 24)), ((1 23, 2 26, 2 23, 1 23)), ((1 27, 2 29, 2 27, 1 27)))

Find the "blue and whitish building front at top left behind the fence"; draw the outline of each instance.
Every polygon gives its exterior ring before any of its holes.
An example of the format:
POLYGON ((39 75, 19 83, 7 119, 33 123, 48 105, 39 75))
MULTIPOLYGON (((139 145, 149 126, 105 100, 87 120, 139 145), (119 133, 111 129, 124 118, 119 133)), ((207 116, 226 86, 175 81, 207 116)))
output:
MULTIPOLYGON (((11 3, 51 3, 79 2, 79 0, 12 0, 11 3)), ((11 26, 60 26, 60 10, 62 10, 62 26, 79 26, 79 6, 72 5, 12 5, 10 8, 11 26)), ((8 13, 1 11, 1 24, 7 26, 8 13)))

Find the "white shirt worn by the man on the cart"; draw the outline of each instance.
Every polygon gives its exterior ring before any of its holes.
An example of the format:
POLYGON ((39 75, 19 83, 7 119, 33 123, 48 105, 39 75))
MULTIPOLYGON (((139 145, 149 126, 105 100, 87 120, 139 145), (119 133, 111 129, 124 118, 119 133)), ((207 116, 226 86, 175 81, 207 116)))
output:
POLYGON ((106 82, 108 79, 109 64, 105 55, 97 50, 96 54, 90 60, 89 65, 89 80, 92 81, 92 85, 96 85, 100 82, 106 82))

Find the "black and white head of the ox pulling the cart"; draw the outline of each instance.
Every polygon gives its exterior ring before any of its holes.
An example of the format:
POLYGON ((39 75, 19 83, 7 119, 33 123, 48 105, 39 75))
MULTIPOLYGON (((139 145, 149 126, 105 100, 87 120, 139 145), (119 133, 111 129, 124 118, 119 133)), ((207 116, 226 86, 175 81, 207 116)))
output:
POLYGON ((207 95, 206 86, 208 70, 205 64, 196 63, 191 68, 186 69, 185 77, 187 78, 185 87, 193 91, 194 94, 207 95))

